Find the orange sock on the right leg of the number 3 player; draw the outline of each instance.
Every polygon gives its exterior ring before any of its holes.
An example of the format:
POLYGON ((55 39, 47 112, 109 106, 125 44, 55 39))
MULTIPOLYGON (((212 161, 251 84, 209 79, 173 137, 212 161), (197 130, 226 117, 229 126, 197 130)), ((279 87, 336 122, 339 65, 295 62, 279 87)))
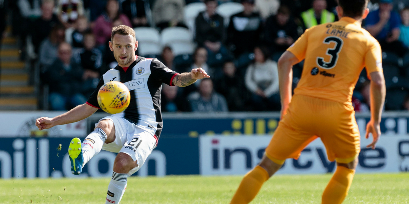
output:
POLYGON ((322 194, 321 204, 341 204, 351 187, 355 170, 337 166, 333 177, 322 194))

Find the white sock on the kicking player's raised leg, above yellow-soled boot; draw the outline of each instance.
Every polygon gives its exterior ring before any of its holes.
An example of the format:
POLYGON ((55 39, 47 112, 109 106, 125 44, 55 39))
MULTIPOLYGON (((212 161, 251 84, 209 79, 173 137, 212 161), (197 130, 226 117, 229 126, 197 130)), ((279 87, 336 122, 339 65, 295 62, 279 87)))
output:
POLYGON ((88 163, 94 155, 97 155, 101 151, 105 140, 106 133, 101 128, 96 128, 85 138, 82 142, 82 155, 84 157, 84 163, 82 166, 88 163))

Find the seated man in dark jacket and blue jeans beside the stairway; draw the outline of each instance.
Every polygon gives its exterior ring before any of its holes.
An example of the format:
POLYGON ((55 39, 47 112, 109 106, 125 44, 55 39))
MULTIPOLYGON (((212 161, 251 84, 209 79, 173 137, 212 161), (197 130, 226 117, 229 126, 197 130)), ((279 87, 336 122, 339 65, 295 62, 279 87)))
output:
POLYGON ((49 102, 55 111, 67 110, 87 99, 81 94, 83 70, 72 62, 71 45, 63 42, 58 46, 58 59, 45 72, 45 79, 49 84, 49 102))

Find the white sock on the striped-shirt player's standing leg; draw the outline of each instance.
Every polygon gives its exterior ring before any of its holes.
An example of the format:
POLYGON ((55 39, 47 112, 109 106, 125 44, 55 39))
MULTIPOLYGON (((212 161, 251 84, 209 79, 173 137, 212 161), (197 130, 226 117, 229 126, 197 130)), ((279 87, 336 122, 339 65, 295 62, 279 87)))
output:
POLYGON ((122 199, 122 195, 125 193, 126 183, 128 182, 127 173, 112 172, 111 182, 108 185, 108 192, 106 195, 105 204, 115 203, 118 204, 122 199))

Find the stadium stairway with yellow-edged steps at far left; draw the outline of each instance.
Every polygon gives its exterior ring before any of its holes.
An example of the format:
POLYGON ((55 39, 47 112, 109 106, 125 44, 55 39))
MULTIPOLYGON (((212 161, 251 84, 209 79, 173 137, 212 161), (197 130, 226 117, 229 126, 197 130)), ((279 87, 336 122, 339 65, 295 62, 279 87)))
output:
POLYGON ((34 86, 29 84, 26 64, 20 61, 16 38, 2 40, 0 63, 0 110, 36 110, 34 86))

